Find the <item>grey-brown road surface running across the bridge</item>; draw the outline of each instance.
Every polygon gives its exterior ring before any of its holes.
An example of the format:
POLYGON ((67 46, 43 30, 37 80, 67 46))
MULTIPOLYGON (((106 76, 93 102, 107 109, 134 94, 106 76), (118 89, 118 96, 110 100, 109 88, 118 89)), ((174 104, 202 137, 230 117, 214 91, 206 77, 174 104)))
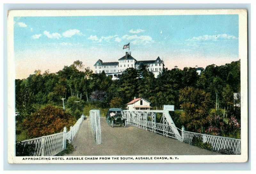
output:
POLYGON ((72 144, 76 150, 68 156, 86 155, 216 155, 219 153, 145 131, 131 125, 108 126, 100 119, 102 144, 97 145, 92 135, 90 121, 84 120, 72 144))

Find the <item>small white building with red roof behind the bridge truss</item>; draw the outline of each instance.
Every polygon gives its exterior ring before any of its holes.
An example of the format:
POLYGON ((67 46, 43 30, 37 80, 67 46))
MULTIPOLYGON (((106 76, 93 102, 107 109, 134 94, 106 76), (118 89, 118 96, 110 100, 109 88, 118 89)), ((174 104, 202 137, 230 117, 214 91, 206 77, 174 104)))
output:
POLYGON ((127 110, 150 110, 150 102, 146 99, 134 97, 132 101, 126 104, 127 110))

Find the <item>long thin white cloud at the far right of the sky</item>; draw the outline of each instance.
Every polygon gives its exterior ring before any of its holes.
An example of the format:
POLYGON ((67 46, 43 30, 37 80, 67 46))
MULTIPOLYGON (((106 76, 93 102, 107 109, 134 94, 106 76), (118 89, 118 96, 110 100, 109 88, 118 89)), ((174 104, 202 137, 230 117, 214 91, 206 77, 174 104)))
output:
POLYGON ((230 40, 237 39, 236 36, 227 35, 227 34, 219 34, 219 35, 204 35, 198 37, 192 37, 187 39, 187 41, 217 41, 217 40, 230 40))

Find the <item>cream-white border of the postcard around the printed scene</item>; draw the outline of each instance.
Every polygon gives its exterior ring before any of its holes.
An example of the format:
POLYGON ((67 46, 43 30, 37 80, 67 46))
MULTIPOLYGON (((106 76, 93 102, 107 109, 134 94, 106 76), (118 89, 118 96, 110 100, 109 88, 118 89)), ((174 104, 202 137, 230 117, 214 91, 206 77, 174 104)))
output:
MULTIPOLYGON (((246 162, 248 159, 248 75, 247 75, 247 11, 240 10, 14 10, 8 12, 7 23, 7 73, 8 73, 8 163, 162 163, 162 162, 246 162), (44 15, 42 15, 44 14, 44 15), (173 155, 179 160, 22 160, 14 153, 15 144, 15 73, 13 17, 15 16, 123 16, 123 15, 213 15, 238 14, 239 59, 241 60, 241 155, 173 155)), ((151 156, 151 155, 150 155, 151 156)), ((170 157, 170 155, 165 155, 170 157)), ((71 157, 71 156, 68 156, 71 157)), ((77 156, 76 156, 77 157, 77 156)), ((81 156, 82 157, 82 156, 81 156)), ((90 156, 92 157, 92 156, 90 156)), ((100 157, 100 156, 97 156, 100 157)), ((109 156, 114 157, 114 156, 109 156)), ((119 156, 125 157, 125 156, 119 156)), ((136 156, 133 156, 134 158, 136 156)), ((141 156, 140 156, 141 157, 141 156)), ((154 157, 154 156, 152 156, 154 157)), ((64 157, 66 158, 66 157, 64 157)))

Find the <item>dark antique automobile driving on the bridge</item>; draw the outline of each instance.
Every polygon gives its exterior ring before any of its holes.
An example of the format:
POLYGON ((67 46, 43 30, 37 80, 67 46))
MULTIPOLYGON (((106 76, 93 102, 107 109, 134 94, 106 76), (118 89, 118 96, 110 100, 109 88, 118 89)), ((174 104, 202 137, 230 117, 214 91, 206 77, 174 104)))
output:
POLYGON ((110 108, 108 109, 108 113, 106 115, 106 120, 108 125, 113 128, 115 124, 119 124, 120 126, 124 125, 126 127, 126 119, 123 117, 122 112, 123 109, 120 108, 110 108))

